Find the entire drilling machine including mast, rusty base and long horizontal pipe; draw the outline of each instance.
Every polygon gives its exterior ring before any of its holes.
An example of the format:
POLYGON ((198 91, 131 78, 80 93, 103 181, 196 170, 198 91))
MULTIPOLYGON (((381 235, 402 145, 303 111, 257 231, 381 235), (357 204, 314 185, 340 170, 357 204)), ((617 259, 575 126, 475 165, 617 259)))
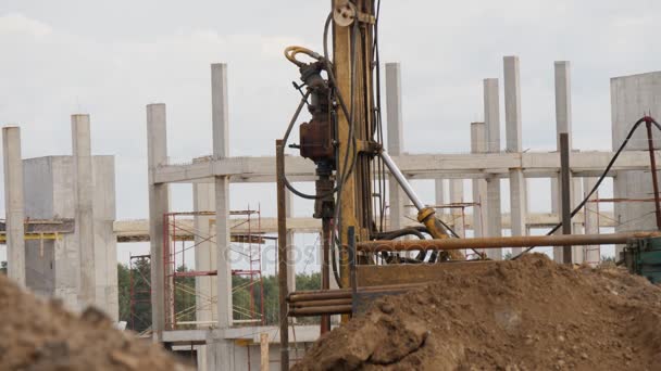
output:
POLYGON ((444 269, 491 264, 484 261, 482 248, 523 246, 529 251, 539 243, 571 246, 623 243, 631 238, 611 234, 459 240, 437 217, 435 208, 423 204, 384 145, 379 3, 378 0, 334 0, 323 27, 322 50, 299 46, 285 50, 285 57, 300 73, 300 81, 294 86, 302 97, 283 139, 276 141, 283 369, 288 367, 287 316, 322 316, 321 332, 324 333, 330 329, 330 315, 342 315, 346 321, 375 297, 432 282, 444 269), (299 124, 303 108, 310 117, 299 124), (295 129, 299 132, 299 143, 290 142, 295 129), (298 150, 300 156, 314 163, 312 194, 300 191, 287 178, 286 149, 298 150), (417 209, 420 226, 388 230, 386 177, 399 184, 417 209), (287 266, 292 263, 287 261, 290 246, 286 238, 286 189, 313 200, 313 215, 322 220, 322 290, 287 293, 287 266), (402 238, 410 239, 401 241, 402 238), (469 243, 458 243, 460 241, 469 243), (470 261, 460 253, 465 250, 475 252, 470 261), (332 278, 338 289, 330 290, 332 278))

